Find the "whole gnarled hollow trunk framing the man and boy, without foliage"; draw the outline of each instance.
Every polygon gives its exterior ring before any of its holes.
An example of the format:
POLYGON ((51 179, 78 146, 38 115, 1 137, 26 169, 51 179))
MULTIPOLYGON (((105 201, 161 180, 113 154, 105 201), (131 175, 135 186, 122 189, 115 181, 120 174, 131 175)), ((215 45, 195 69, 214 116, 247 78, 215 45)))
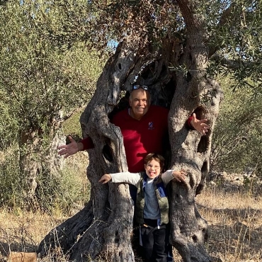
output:
MULTIPOLYGON (((186 3, 188 1, 178 1, 181 6, 186 3)), ((187 16, 188 8, 184 13, 186 23, 194 18, 187 16)), ((135 261, 128 186, 101 185, 98 179, 104 173, 127 171, 123 137, 120 129, 110 123, 108 115, 118 103, 120 91, 130 91, 134 76, 146 64, 142 76, 144 84, 150 85, 152 103, 170 108, 168 167, 188 172, 186 185, 171 183, 170 242, 183 261, 211 261, 204 247, 207 222, 197 210, 195 195, 203 190, 209 171, 212 130, 222 93, 220 86, 205 75, 208 50, 204 39, 199 37, 199 34, 204 35, 200 23, 190 21, 188 24, 188 40, 184 47, 176 40, 166 40, 161 50, 152 50, 149 46, 147 52, 142 53, 132 45, 139 41, 132 39, 132 42, 127 40, 120 44, 108 60, 98 79, 96 92, 81 115, 83 135, 90 135, 95 144, 94 149, 89 150, 87 170, 91 200, 83 210, 42 240, 38 247, 40 256, 60 249, 74 261, 135 261), (170 72, 170 65, 183 66, 187 72, 170 72), (204 98, 208 98, 207 103, 203 103, 204 98), (209 120, 210 131, 205 137, 186 128, 186 120, 192 113, 196 113, 198 119, 209 120)))

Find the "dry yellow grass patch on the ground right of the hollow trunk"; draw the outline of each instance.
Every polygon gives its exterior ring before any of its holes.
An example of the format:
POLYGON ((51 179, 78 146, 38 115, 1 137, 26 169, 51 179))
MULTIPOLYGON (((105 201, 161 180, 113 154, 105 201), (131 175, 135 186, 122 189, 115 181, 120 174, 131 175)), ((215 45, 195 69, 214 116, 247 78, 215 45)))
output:
POLYGON ((200 214, 210 225, 207 249, 221 261, 262 261, 262 198, 248 190, 212 188, 198 195, 200 214))

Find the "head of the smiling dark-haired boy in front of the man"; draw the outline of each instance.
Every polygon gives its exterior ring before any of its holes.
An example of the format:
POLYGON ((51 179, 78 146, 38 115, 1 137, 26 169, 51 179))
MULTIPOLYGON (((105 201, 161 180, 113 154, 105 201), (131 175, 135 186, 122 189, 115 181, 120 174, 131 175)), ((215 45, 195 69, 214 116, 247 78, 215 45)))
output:
POLYGON ((150 153, 144 158, 144 170, 149 178, 156 178, 164 169, 164 157, 161 154, 150 153))

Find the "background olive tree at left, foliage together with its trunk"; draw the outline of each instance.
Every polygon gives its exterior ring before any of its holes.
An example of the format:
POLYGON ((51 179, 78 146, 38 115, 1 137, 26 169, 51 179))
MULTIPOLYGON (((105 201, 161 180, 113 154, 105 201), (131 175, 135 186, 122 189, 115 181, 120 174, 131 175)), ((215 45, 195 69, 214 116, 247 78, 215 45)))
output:
POLYGON ((0 147, 18 144, 18 183, 26 178, 34 197, 39 174, 50 177, 59 164, 61 123, 89 101, 103 59, 81 43, 53 45, 59 16, 45 1, 6 1, 0 9, 0 147))

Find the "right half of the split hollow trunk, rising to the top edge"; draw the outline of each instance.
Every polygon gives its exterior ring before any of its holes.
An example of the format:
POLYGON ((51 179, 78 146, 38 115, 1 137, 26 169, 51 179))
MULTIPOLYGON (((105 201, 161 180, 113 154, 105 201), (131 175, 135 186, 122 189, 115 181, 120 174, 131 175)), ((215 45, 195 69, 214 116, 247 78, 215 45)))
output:
POLYGON ((203 23, 198 16, 194 1, 177 1, 186 21, 187 43, 179 64, 186 72, 178 72, 176 92, 169 113, 169 136, 172 163, 176 169, 186 169, 186 185, 172 183, 171 237, 183 261, 211 261, 203 243, 208 237, 207 222, 200 216, 195 205, 195 195, 205 186, 209 171, 212 132, 218 115, 222 91, 216 81, 206 77, 209 50, 203 23), (207 102, 203 103, 204 98, 207 102), (185 128, 188 114, 198 119, 207 118, 210 131, 206 136, 185 128))

